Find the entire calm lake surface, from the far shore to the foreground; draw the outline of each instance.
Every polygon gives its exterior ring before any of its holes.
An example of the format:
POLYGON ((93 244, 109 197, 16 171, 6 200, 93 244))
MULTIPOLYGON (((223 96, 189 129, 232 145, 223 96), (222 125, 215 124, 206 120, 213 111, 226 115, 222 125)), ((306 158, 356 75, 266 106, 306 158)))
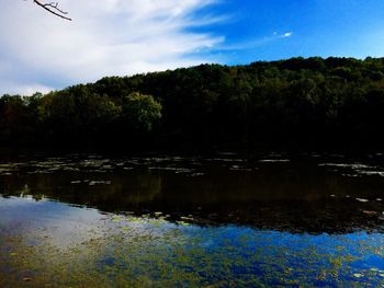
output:
POLYGON ((0 160, 0 287, 384 287, 384 157, 0 160))

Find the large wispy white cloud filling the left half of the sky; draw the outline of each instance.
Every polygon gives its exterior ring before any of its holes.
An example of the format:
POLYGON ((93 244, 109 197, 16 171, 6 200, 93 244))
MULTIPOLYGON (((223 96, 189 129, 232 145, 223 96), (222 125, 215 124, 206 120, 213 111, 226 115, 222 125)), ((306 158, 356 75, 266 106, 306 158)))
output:
MULTIPOLYGON (((193 55, 224 42, 191 26, 215 0, 60 0, 72 22, 30 1, 0 2, 0 94, 43 92, 104 76, 172 69, 215 59, 193 55)), ((206 56, 205 56, 206 57, 206 56)))

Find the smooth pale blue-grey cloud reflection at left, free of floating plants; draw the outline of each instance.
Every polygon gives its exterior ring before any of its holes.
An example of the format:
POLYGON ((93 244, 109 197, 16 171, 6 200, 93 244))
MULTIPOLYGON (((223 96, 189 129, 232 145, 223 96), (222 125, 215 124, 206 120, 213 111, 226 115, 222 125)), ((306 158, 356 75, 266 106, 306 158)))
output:
POLYGON ((94 209, 77 208, 47 199, 31 197, 0 201, 0 227, 11 233, 23 233, 33 240, 37 234, 46 234, 57 244, 83 241, 87 231, 98 229, 101 215, 94 209))

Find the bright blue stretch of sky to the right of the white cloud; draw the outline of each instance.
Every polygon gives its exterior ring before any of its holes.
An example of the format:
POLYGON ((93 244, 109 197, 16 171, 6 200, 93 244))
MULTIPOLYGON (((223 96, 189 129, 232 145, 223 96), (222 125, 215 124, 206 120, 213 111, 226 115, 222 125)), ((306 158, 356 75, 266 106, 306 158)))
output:
POLYGON ((225 35, 224 49, 211 53, 227 64, 295 56, 384 56, 382 0, 226 0, 212 10, 233 16, 211 30, 225 35))

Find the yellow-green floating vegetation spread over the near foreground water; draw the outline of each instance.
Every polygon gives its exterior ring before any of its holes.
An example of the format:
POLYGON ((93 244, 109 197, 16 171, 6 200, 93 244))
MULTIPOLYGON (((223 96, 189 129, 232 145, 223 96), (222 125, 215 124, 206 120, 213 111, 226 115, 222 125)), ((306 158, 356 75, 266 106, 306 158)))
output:
MULTIPOLYGON (((382 234, 295 235, 235 226, 201 228, 185 222, 190 216, 171 223, 149 215, 100 216, 67 208, 68 214, 48 223, 32 215, 33 224, 39 227, 36 233, 0 231, 0 276, 8 272, 7 277, 0 277, 1 287, 22 283, 34 287, 384 284, 383 265, 369 268, 364 262, 384 256, 382 234), (81 241, 63 238, 68 217, 77 214, 89 219, 81 227, 71 227, 74 234, 81 231, 81 241)), ((0 224, 11 222, 0 219, 0 224)))

